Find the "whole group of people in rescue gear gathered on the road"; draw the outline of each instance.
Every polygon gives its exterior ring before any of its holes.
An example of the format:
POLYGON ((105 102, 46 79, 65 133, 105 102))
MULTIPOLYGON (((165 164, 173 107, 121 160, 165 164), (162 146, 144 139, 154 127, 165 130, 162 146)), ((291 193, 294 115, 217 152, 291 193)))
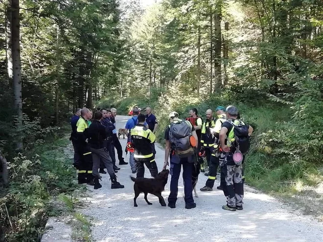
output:
MULTIPOLYGON (((144 177, 146 166, 152 177, 158 174, 155 161, 155 132, 158 122, 151 108, 146 108, 146 115, 140 113, 137 107, 132 110, 132 117, 125 125, 127 135, 126 152, 129 152, 129 164, 133 174, 144 177)), ((142 111, 141 111, 142 112, 142 111)), ((115 173, 119 168, 115 165, 115 149, 119 165, 128 164, 122 157, 122 147, 116 135, 116 110, 101 109, 92 114, 89 109, 77 110, 71 119, 71 140, 74 147, 74 165, 78 169, 79 183, 101 187, 100 173, 104 168, 112 180, 112 188, 123 188, 116 181, 115 173)), ((201 164, 204 172, 204 159, 208 164, 206 185, 201 191, 212 191, 214 181, 220 167, 220 186, 227 198, 227 204, 222 208, 229 211, 243 209, 243 162, 249 149, 249 137, 253 128, 240 119, 234 106, 226 109, 219 106, 206 111, 206 120, 198 116, 198 110, 189 110, 185 120, 173 111, 169 114, 169 125, 164 132, 165 155, 162 169, 170 166, 170 194, 168 206, 176 207, 178 181, 183 166, 185 208, 196 207, 192 191, 192 174, 196 165, 201 164)), ((200 166, 198 166, 200 167, 200 166)))

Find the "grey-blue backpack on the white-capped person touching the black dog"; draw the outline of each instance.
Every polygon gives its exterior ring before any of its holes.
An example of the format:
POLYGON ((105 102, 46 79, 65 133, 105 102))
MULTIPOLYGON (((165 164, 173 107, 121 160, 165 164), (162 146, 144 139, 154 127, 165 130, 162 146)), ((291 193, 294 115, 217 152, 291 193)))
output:
POLYGON ((192 136, 192 126, 186 121, 178 120, 169 125, 169 141, 171 148, 180 158, 194 154, 189 138, 192 136))

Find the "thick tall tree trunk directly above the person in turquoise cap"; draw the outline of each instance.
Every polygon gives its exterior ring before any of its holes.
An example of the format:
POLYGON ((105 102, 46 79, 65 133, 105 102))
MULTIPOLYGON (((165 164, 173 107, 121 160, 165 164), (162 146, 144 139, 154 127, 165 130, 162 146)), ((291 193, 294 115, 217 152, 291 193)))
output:
POLYGON ((215 46, 214 46, 214 78, 215 84, 214 89, 221 88, 222 78, 221 78, 221 19, 222 19, 222 0, 219 0, 215 5, 214 13, 214 37, 215 37, 215 46))

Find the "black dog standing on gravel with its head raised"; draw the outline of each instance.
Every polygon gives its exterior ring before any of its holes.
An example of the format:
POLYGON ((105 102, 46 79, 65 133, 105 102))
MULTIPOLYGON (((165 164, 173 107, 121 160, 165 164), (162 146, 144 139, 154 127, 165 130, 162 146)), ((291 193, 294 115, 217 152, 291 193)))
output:
POLYGON ((135 182, 134 184, 134 190, 135 190, 135 198, 134 198, 134 206, 138 207, 137 205, 137 198, 140 193, 145 194, 145 200, 148 205, 151 205, 152 203, 148 201, 147 194, 150 193, 152 195, 155 195, 159 198, 159 202, 161 203, 161 206, 165 207, 166 203, 164 198, 161 196, 161 192, 164 190, 165 185, 167 183, 169 175, 169 170, 162 170, 155 178, 142 178, 142 177, 132 177, 132 181, 135 182))

